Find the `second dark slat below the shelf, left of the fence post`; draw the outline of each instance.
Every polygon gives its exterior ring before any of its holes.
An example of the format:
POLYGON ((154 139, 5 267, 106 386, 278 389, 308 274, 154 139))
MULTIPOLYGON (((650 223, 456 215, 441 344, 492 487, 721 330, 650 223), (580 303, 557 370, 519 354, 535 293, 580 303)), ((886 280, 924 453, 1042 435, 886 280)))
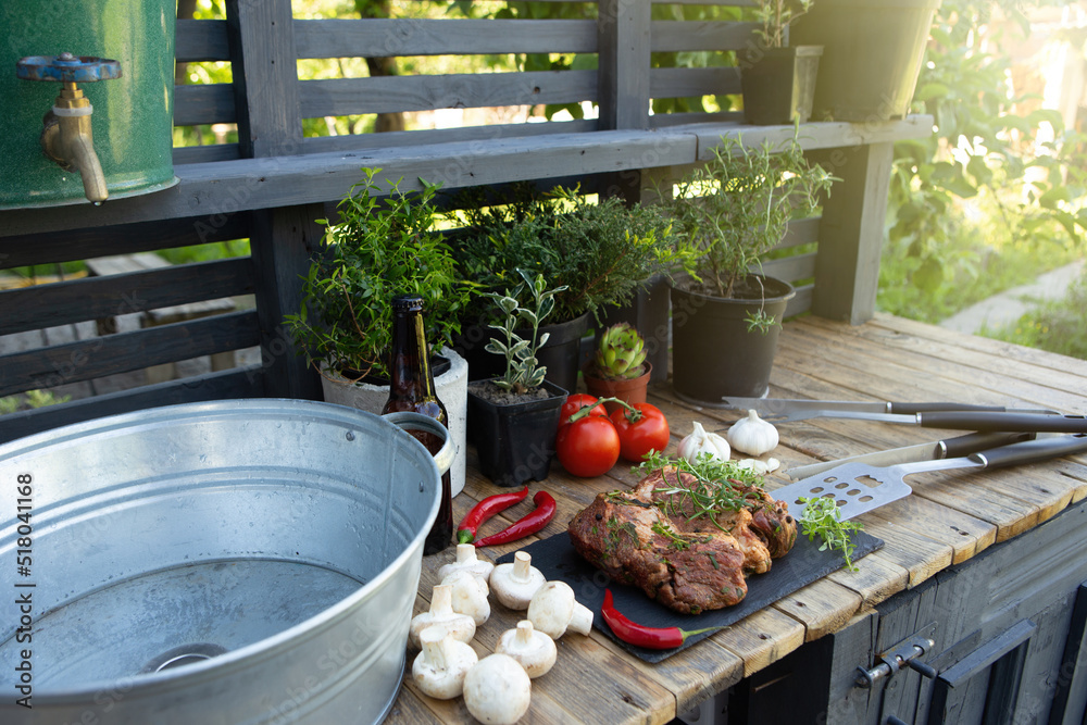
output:
POLYGON ((253 291, 249 258, 0 291, 0 335, 253 291))

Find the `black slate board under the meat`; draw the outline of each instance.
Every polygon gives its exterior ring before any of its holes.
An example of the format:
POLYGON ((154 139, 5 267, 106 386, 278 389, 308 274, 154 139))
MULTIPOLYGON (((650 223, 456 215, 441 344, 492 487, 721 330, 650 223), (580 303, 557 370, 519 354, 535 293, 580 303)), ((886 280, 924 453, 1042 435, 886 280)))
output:
MULTIPOLYGON (((850 534, 850 539, 857 545, 857 550, 853 552, 854 562, 884 545, 882 539, 863 532, 850 534)), ((775 559, 769 572, 748 577, 748 593, 744 601, 736 607, 726 607, 702 614, 673 612, 646 597, 640 589, 612 582, 611 577, 589 564, 574 550, 570 542, 570 536, 565 532, 540 541, 534 541, 523 551, 532 555, 533 566, 542 572, 548 580, 561 579, 573 588, 577 601, 592 610, 592 625, 597 629, 619 642, 621 647, 635 657, 646 662, 660 662, 715 633, 694 635, 688 637, 680 647, 671 650, 650 650, 628 645, 615 637, 600 616, 604 589, 611 588, 612 596, 615 598, 615 609, 638 624, 650 627, 677 626, 688 630, 725 626, 742 620, 748 614, 758 612, 846 565, 846 560, 840 552, 820 551, 819 547, 819 541, 809 541, 808 537, 798 536, 792 551, 782 559, 775 559)), ((513 552, 498 559, 498 563, 502 564, 512 561, 513 552)))

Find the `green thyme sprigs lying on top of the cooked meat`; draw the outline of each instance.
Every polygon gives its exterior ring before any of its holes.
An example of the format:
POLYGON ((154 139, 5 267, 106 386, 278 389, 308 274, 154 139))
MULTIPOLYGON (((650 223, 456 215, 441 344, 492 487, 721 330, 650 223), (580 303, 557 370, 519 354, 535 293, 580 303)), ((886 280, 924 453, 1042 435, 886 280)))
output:
POLYGON ((658 505, 669 516, 683 515, 688 521, 704 517, 722 532, 727 532, 717 523, 719 513, 739 511, 745 507, 755 508, 764 503, 761 493, 762 477, 748 468, 739 467, 734 461, 721 461, 703 453, 691 463, 652 451, 635 471, 646 473, 664 467, 689 473, 697 479, 690 486, 655 489, 658 493, 667 497, 658 505))

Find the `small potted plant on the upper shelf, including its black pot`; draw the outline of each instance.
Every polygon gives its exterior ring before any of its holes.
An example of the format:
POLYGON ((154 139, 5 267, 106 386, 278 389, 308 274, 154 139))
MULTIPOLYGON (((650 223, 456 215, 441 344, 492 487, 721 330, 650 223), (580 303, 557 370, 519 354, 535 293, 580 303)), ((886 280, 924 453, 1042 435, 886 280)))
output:
POLYGON ((789 26, 811 10, 813 0, 757 0, 754 34, 741 59, 744 115, 749 124, 808 121, 823 46, 788 42, 789 26))

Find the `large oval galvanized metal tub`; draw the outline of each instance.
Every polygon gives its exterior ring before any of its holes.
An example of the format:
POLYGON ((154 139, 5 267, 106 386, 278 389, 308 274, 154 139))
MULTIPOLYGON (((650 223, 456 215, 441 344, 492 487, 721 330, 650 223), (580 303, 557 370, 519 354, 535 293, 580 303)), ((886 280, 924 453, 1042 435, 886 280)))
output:
POLYGON ((233 400, 0 446, 0 722, 384 718, 452 459, 389 417, 233 400))

